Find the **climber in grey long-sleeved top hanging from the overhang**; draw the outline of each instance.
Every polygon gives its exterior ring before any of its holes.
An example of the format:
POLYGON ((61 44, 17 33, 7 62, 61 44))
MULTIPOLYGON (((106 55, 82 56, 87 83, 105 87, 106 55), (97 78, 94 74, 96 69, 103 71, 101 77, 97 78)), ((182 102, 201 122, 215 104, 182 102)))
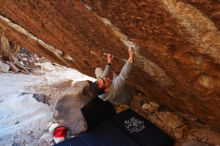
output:
POLYGON ((114 76, 111 80, 109 78, 109 72, 112 65, 113 56, 108 54, 107 56, 107 65, 105 70, 98 67, 95 69, 95 75, 97 81, 95 82, 97 85, 97 94, 98 97, 102 100, 113 104, 130 104, 133 94, 131 88, 126 83, 126 80, 131 71, 132 65, 134 63, 135 53, 133 48, 128 49, 129 58, 123 66, 119 75, 114 76))

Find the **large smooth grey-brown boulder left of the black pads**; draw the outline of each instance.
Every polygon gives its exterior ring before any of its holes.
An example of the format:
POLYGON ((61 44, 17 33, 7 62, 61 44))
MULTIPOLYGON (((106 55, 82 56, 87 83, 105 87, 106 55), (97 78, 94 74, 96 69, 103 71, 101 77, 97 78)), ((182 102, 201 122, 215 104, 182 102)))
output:
POLYGON ((62 126, 71 129, 72 134, 87 130, 87 123, 81 108, 95 98, 91 82, 75 82, 57 99, 54 106, 54 119, 62 126))

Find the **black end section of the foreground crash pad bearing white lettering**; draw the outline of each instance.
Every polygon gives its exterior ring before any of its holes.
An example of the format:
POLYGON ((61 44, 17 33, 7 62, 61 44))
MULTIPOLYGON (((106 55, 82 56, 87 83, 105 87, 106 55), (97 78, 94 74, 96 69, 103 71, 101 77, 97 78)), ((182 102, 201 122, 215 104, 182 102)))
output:
POLYGON ((174 144, 174 140, 169 135, 130 109, 114 116, 111 122, 140 146, 174 144))

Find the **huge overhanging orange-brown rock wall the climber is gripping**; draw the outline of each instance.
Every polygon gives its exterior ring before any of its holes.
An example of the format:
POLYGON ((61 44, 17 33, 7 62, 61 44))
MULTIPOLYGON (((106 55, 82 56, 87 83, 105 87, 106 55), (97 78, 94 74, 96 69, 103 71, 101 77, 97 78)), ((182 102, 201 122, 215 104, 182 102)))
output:
POLYGON ((135 44, 130 84, 161 105, 220 126, 219 0, 82 2, 87 6, 1 1, 0 29, 21 46, 92 76, 107 52, 120 71, 126 46, 135 44))

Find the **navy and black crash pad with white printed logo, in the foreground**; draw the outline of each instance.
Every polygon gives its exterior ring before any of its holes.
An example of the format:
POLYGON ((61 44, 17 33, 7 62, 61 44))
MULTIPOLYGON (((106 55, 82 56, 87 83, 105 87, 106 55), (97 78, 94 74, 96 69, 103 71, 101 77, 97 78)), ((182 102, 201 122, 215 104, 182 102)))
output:
POLYGON ((173 146, 174 140, 128 109, 56 146, 173 146))

